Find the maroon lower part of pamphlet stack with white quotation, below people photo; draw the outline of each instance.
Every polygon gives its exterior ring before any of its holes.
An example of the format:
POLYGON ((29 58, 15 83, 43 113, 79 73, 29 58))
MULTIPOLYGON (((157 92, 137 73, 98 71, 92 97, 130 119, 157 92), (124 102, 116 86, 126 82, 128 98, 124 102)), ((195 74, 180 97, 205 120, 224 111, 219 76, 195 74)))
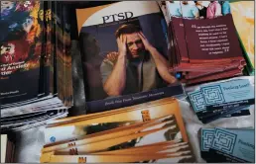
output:
POLYGON ((246 62, 231 14, 213 19, 172 17, 169 40, 170 70, 181 73, 188 85, 242 75, 246 62))

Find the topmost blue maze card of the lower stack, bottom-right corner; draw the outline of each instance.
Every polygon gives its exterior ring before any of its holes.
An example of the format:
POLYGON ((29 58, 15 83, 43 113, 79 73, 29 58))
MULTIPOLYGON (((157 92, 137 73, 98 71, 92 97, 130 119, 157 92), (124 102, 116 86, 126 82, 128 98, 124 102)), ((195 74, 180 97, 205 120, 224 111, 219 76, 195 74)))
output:
POLYGON ((254 129, 216 127, 209 148, 210 162, 253 162, 255 158, 254 129))

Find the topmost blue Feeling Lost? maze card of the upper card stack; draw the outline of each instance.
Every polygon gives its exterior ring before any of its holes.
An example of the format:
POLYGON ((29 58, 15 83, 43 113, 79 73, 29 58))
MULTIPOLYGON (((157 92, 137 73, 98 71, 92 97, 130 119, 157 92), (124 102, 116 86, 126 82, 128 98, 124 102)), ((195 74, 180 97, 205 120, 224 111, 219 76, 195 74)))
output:
POLYGON ((254 104, 254 88, 248 79, 214 83, 200 88, 207 110, 237 108, 254 104))

